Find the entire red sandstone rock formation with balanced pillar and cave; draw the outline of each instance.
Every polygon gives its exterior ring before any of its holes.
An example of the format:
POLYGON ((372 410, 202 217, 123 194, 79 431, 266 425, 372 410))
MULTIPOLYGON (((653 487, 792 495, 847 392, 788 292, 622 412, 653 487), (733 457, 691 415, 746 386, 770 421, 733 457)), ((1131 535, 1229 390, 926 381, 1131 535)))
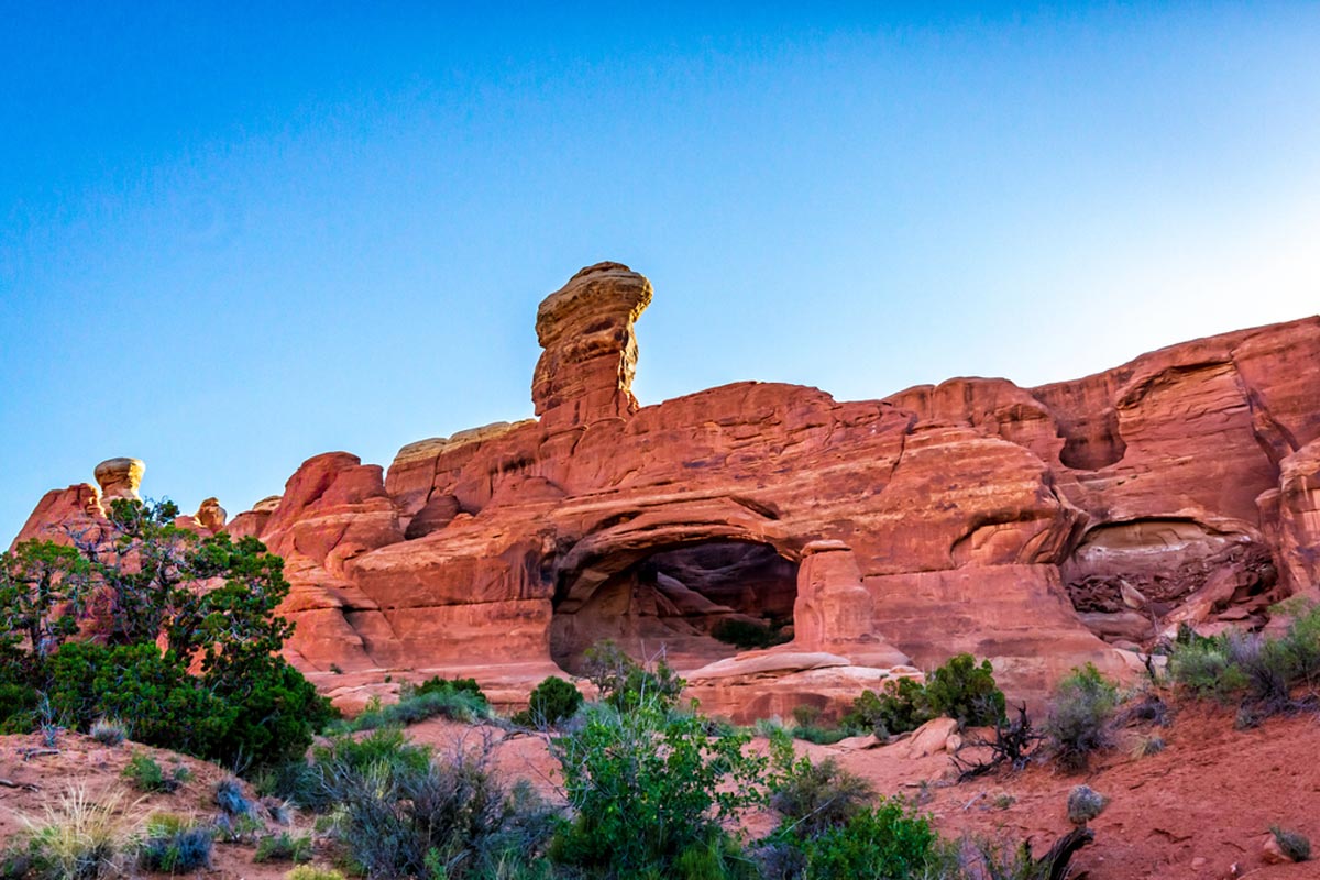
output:
MULTIPOLYGON (((318 455, 227 524, 191 517, 284 555, 290 660, 322 689, 414 670, 517 699, 609 637, 739 718, 961 652, 1031 697, 1080 664, 1139 668, 1181 624, 1320 598, 1320 318, 1040 388, 738 383, 639 406, 651 297, 602 263, 541 303, 536 420, 411 443, 388 471, 318 455)), ((135 474, 49 493, 21 537, 94 522, 135 474)))

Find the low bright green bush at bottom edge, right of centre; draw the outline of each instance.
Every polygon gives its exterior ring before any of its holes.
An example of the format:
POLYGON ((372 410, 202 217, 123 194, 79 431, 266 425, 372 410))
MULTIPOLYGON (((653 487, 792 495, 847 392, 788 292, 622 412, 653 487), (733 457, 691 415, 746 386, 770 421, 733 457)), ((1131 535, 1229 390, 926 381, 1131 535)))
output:
POLYGON ((898 798, 863 809, 846 823, 801 842, 804 880, 921 877, 942 859, 931 821, 898 798))

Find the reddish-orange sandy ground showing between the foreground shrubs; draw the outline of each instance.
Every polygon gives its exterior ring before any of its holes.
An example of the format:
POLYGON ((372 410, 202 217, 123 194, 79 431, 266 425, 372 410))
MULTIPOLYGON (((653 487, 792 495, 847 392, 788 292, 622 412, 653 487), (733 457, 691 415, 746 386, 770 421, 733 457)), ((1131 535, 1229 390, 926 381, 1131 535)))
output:
MULTIPOLYGON (((510 736, 440 719, 408 732, 441 751, 475 745, 490 736, 502 774, 527 778, 546 797, 557 798, 556 763, 541 736, 510 736)), ((1094 844, 1074 859, 1092 880, 1320 877, 1320 862, 1271 865, 1262 852, 1271 825, 1320 842, 1320 720, 1312 715, 1276 718, 1259 728, 1237 731, 1232 712, 1188 706, 1176 712, 1170 727, 1155 732, 1167 743, 1163 752, 1135 757, 1130 748, 1115 749, 1085 774, 1036 765, 964 784, 952 782, 945 753, 913 760, 899 756, 902 749, 894 747, 849 751, 800 745, 813 759, 836 757, 882 794, 920 798, 921 809, 946 835, 1026 838, 1038 852, 1069 830, 1068 793, 1086 782, 1111 798, 1092 822, 1094 844)), ((1137 735, 1130 732, 1126 745, 1134 745, 1137 735)), ((69 785, 86 786, 96 797, 123 788, 123 768, 135 749, 153 755, 164 767, 182 760, 194 777, 178 792, 143 798, 133 811, 218 813, 213 792, 226 773, 205 761, 133 744, 107 748, 77 734, 61 736, 58 755, 24 753, 40 745, 36 735, 0 738, 0 780, 18 786, 0 786, 0 839, 21 830, 20 815, 40 819, 44 805, 69 785)), ((748 830, 763 831, 772 822, 768 815, 751 817, 748 830)), ((294 818, 296 833, 308 833, 310 826, 310 817, 294 818)), ((275 822, 268 822, 268 829, 280 830, 275 822)), ((255 864, 253 851, 251 843, 216 843, 214 869, 198 876, 275 880, 288 871, 288 864, 255 864)), ((318 851, 317 862, 327 859, 327 852, 318 851)))

